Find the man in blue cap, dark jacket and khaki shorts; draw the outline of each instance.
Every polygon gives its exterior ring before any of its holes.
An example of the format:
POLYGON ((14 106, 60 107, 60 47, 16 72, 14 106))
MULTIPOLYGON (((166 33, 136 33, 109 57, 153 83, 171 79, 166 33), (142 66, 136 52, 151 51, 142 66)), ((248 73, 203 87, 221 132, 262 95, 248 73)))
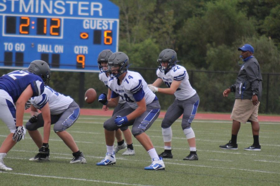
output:
POLYGON ((253 56, 254 48, 245 44, 238 48, 241 51, 243 64, 238 73, 236 83, 228 87, 224 96, 230 92, 235 92, 235 103, 231 113, 232 129, 231 140, 228 144, 220 145, 222 149, 237 150, 237 134, 240 129, 240 123, 251 122, 254 143, 244 150, 260 151, 259 145, 259 121, 258 110, 259 101, 262 96, 262 75, 257 59, 253 56))

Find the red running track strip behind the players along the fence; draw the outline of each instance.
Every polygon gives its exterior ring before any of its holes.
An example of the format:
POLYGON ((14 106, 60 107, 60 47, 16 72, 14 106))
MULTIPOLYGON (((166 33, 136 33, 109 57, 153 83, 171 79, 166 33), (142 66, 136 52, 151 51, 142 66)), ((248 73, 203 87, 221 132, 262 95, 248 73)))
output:
MULTIPOLYGON (((81 115, 95 116, 112 116, 113 110, 103 111, 102 109, 81 109, 81 115)), ((163 118, 166 112, 160 113, 160 118, 163 118)), ((197 113, 195 119, 209 120, 231 120, 230 114, 214 114, 214 113, 197 113)), ((182 118, 182 116, 180 117, 182 118)), ((280 122, 280 116, 258 116, 260 122, 280 122)))

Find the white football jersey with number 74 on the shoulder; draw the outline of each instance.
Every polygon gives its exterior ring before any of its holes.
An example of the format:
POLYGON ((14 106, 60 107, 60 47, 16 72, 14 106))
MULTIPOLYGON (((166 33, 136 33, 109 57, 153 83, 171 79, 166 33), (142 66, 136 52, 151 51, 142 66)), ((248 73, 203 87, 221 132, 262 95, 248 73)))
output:
POLYGON ((146 81, 138 72, 127 71, 127 74, 124 77, 121 85, 118 85, 118 78, 114 78, 109 80, 108 86, 112 90, 112 95, 118 94, 120 99, 126 101, 128 105, 134 109, 138 107, 134 96, 136 99, 141 98, 142 94, 135 94, 141 88, 144 92, 146 105, 152 103, 156 97, 156 95, 148 88, 146 81))

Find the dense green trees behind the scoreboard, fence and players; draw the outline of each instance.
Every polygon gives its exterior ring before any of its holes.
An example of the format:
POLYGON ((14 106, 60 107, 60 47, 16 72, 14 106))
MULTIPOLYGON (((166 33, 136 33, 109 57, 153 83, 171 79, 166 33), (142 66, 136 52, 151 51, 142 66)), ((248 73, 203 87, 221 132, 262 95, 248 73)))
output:
MULTIPOLYGON (((111 1, 120 9, 119 51, 128 55, 130 69, 148 83, 156 79, 160 51, 174 49, 200 96, 199 111, 231 112, 234 95, 223 98, 222 92, 235 82, 240 69, 237 48, 250 43, 263 73, 259 112, 280 113, 280 0, 111 1)), ((97 102, 83 102, 87 88, 95 88, 98 95, 107 91, 98 73, 85 73, 85 90, 79 90, 81 76, 52 72, 50 86, 71 95, 82 107, 101 108, 97 102)), ((157 96, 162 109, 175 98, 157 96)))

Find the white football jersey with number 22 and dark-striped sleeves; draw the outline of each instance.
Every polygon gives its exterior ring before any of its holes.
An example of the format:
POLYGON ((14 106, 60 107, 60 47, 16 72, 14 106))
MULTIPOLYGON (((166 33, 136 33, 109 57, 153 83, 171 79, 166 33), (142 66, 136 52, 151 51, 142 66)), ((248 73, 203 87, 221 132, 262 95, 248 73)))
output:
POLYGON ((161 78, 168 87, 171 86, 173 81, 182 80, 180 86, 174 93, 178 100, 187 100, 196 94, 196 91, 189 83, 187 70, 183 66, 175 65, 166 74, 157 69, 156 75, 161 78))

